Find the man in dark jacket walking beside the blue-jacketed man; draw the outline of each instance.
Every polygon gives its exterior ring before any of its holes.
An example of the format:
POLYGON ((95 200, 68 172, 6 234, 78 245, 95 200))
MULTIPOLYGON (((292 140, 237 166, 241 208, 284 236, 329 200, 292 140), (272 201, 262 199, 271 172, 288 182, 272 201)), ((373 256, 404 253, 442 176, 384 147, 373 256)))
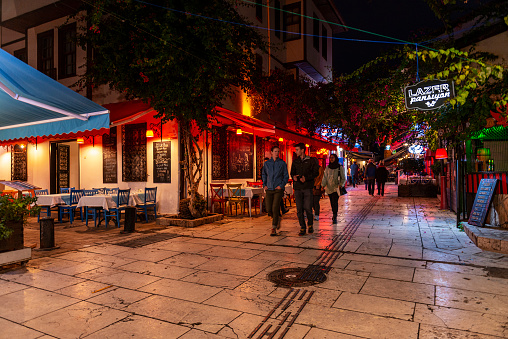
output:
POLYGON ((307 227, 305 225, 305 217, 303 212, 307 214, 308 231, 314 233, 314 218, 312 217, 312 188, 314 187, 314 179, 319 175, 317 161, 310 156, 305 155, 305 144, 299 143, 295 145, 296 159, 291 165, 291 177, 293 178, 293 190, 296 202, 296 214, 300 223, 300 233, 305 235, 307 227))

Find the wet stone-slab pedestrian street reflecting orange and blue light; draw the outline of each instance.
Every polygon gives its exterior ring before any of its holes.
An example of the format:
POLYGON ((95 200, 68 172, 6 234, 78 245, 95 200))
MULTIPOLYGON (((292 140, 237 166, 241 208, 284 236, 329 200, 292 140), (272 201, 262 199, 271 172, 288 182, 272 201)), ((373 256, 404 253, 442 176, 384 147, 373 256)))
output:
MULTIPOLYGON (((348 188, 338 225, 322 199, 306 236, 294 204, 277 237, 267 216, 138 224, 145 233, 128 236, 57 225, 59 250, 0 273, 0 337, 508 337, 508 256, 478 249, 437 199, 386 189, 370 197, 363 185, 348 188), (321 283, 289 289, 267 279, 316 266, 317 276, 328 272, 321 283)), ((26 242, 37 239, 31 227, 26 242)))

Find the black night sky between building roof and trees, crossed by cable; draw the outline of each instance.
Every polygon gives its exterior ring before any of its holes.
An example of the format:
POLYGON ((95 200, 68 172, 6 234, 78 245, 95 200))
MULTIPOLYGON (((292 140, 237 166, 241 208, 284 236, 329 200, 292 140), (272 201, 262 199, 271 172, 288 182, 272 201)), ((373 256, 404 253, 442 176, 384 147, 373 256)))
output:
MULTIPOLYGON (((386 36, 413 41, 422 32, 443 27, 424 0, 334 0, 347 26, 386 36)), ((386 40, 349 30, 340 38, 386 40)), ((335 72, 350 73, 396 45, 356 41, 333 42, 335 72)))

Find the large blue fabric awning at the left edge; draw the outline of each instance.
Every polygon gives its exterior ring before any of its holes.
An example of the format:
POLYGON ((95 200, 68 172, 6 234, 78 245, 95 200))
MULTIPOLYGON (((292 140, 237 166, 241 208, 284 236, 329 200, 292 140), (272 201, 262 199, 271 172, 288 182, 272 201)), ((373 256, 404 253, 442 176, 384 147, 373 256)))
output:
POLYGON ((0 49, 0 141, 109 128, 109 111, 0 49))

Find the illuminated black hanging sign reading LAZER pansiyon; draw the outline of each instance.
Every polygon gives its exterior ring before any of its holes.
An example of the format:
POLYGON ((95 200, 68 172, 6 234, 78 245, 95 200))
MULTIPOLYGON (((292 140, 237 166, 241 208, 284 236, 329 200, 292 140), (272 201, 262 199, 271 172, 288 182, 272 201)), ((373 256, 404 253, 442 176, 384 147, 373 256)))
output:
POLYGON ((436 109, 444 105, 446 100, 455 96, 453 81, 429 80, 422 81, 404 89, 404 98, 408 109, 422 111, 436 109))

